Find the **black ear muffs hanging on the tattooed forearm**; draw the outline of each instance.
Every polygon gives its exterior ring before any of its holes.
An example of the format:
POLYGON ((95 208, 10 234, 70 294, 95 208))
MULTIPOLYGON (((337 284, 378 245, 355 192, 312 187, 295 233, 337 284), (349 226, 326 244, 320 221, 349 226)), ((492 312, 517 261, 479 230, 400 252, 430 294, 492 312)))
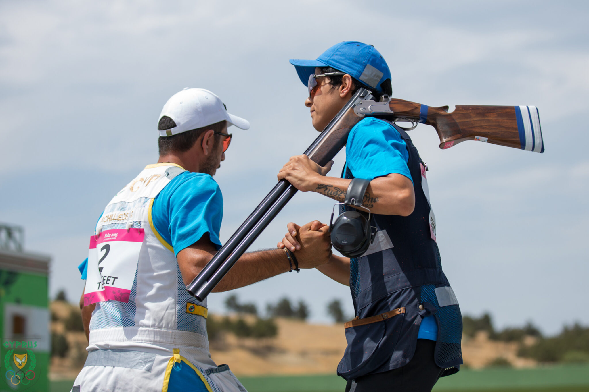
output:
MULTIPOLYGON (((362 206, 364 193, 370 180, 355 178, 348 186, 346 199, 343 204, 346 206, 355 206, 368 211, 368 217, 365 213, 359 211, 346 211, 340 214, 335 222, 332 217, 329 222, 331 240, 333 247, 346 257, 358 257, 366 252, 370 244, 374 241, 376 227, 370 226, 370 210, 362 206), (374 230, 372 230, 374 229, 374 230)), ((337 203, 333 206, 341 205, 337 203)))

